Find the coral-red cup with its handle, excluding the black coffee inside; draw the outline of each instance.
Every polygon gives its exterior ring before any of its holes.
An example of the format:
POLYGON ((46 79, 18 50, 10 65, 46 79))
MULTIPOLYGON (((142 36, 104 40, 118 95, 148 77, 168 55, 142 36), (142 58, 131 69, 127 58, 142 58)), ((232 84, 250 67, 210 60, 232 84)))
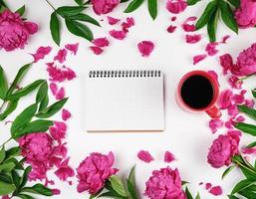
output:
MULTIPOLYGON (((198 90, 200 90, 200 88, 198 88, 198 90)), ((219 97, 219 86, 218 86, 217 81, 211 75, 209 75, 207 72, 204 72, 204 71, 192 71, 192 72, 185 74, 179 81, 179 84, 177 87, 176 101, 182 108, 184 108, 186 110, 190 110, 190 111, 197 111, 197 112, 205 111, 212 118, 219 118, 221 116, 221 111, 215 105, 218 97, 219 97), (204 79, 207 79, 207 81, 209 82, 209 84, 211 85, 211 88, 212 88, 212 98, 211 98, 210 102, 201 108, 194 108, 194 107, 190 106, 183 100, 183 98, 181 96, 181 89, 182 89, 185 81, 187 81, 189 78, 191 78, 193 76, 201 76, 204 79)))

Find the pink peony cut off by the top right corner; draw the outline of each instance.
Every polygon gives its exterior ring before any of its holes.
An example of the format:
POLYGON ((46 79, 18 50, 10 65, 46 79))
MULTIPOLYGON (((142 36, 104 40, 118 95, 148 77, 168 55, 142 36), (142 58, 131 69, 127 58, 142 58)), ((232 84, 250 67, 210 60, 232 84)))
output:
POLYGON ((256 2, 241 0, 240 8, 235 11, 235 19, 240 28, 249 28, 256 25, 256 2))

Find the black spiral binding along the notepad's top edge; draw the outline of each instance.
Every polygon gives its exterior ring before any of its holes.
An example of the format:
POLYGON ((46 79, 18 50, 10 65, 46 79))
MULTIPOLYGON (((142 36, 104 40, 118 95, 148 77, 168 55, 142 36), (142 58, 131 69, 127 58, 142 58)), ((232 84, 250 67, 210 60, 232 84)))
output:
POLYGON ((89 78, 157 78, 161 71, 90 71, 89 78))

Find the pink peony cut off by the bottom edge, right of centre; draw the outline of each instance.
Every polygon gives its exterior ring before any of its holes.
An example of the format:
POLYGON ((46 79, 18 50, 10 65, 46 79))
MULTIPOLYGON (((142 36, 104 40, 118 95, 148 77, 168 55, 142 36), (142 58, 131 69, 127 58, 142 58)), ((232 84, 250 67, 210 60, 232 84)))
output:
POLYGON ((186 199, 177 169, 166 167, 152 171, 145 186, 144 195, 150 199, 186 199))

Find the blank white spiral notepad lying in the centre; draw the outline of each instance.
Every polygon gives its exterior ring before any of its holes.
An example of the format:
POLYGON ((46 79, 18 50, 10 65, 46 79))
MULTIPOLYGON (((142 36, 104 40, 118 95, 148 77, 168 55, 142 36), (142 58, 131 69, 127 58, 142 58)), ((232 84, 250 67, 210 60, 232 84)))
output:
POLYGON ((87 131, 164 129, 160 71, 91 71, 85 100, 87 131))

